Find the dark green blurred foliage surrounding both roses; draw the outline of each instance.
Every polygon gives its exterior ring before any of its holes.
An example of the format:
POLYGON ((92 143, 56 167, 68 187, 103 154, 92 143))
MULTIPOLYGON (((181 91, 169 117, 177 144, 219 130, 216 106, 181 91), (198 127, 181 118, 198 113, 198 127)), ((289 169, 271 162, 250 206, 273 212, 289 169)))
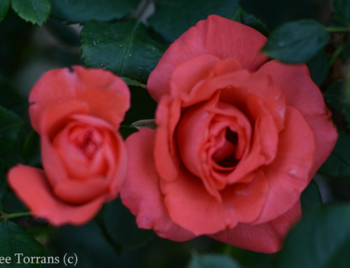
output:
MULTIPOLYGON (((349 0, 0 0, 0 256, 76 253, 77 267, 349 267, 349 31, 349 0), (264 51, 272 58, 307 62, 339 129, 334 152, 302 195, 303 219, 282 251, 253 253, 207 237, 160 239, 137 229, 119 199, 82 227, 54 228, 28 216, 5 176, 18 162, 41 167, 27 113, 38 78, 73 64, 125 78, 132 92, 121 128, 126 137, 132 122, 154 118, 146 80, 162 53, 209 14, 267 35, 264 51)), ((64 265, 43 265, 51 266, 64 265)))

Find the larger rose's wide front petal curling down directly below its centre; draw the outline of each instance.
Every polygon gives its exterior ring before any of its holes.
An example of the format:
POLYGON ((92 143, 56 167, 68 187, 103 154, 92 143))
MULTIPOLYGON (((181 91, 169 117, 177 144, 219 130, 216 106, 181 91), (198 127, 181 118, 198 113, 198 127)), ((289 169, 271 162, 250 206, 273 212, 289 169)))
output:
POLYGON ((214 234, 238 222, 258 217, 267 196, 267 181, 259 172, 251 183, 225 188, 222 202, 209 195, 202 181, 183 171, 172 183, 160 181, 170 218, 196 235, 214 234))

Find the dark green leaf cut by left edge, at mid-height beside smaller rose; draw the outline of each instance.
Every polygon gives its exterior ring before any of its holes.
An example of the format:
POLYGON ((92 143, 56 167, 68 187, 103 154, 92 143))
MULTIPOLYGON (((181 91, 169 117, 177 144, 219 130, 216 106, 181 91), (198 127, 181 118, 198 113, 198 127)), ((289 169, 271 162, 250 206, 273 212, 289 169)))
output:
POLYGON ((0 106, 0 156, 13 146, 21 127, 22 120, 15 113, 0 106))

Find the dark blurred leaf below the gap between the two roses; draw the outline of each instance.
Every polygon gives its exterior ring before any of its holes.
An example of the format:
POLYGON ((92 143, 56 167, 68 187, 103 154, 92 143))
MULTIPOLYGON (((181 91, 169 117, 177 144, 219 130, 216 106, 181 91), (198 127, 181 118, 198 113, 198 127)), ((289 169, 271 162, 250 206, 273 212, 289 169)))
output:
POLYGON ((150 230, 141 230, 137 227, 135 217, 123 206, 120 199, 105 204, 101 213, 100 217, 108 232, 107 236, 116 241, 113 244, 135 249, 144 246, 153 236, 150 230))

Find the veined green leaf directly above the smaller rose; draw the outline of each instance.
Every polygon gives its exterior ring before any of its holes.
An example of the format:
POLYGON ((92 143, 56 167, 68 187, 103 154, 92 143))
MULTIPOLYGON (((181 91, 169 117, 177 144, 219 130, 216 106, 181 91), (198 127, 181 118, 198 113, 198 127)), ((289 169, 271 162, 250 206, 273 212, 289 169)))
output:
POLYGON ((146 83, 167 48, 136 20, 87 22, 81 36, 85 65, 103 67, 141 83, 146 83))

